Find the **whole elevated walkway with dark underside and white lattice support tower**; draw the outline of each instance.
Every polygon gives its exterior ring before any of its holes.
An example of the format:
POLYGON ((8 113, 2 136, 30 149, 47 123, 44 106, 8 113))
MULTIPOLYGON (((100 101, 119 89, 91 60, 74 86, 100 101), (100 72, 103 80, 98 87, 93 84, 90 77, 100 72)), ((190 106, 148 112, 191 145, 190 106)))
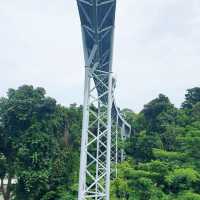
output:
POLYGON ((110 180, 116 176, 118 160, 124 159, 118 141, 130 134, 130 125, 114 100, 112 52, 116 0, 77 0, 77 4, 85 58, 78 200, 109 200, 110 180))

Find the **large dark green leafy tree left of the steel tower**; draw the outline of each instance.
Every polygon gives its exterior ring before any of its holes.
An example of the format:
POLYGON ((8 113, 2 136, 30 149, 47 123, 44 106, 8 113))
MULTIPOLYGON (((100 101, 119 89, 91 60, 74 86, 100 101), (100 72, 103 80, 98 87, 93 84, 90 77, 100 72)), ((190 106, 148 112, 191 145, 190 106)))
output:
MULTIPOLYGON (((72 109, 57 105, 43 88, 27 85, 10 89, 7 98, 0 99, 0 153, 6 163, 1 174, 9 180, 5 200, 11 194, 16 199, 33 200, 47 198, 47 193, 61 191, 59 188, 74 191, 71 187, 77 181, 79 148, 75 149, 72 138, 80 137, 77 122, 81 110, 72 109), (66 131, 71 144, 64 141, 66 131), (18 180, 16 189, 11 185, 13 177, 18 180)), ((76 140, 79 147, 80 139, 76 140)))

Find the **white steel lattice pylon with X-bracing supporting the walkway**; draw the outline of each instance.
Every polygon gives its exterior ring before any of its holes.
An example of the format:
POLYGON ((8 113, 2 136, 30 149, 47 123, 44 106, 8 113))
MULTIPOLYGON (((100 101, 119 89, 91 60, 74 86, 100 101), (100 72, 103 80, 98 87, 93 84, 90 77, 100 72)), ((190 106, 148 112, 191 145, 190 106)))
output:
MULTIPOLYGON (((90 64, 90 56, 88 58, 90 64)), ((111 72, 99 73, 93 67, 85 68, 79 200, 108 200, 112 149, 112 75, 111 72), (102 77, 109 77, 109 83, 104 83, 102 77), (104 91, 100 96, 96 85, 104 91), (106 103, 102 101, 105 98, 106 103)))

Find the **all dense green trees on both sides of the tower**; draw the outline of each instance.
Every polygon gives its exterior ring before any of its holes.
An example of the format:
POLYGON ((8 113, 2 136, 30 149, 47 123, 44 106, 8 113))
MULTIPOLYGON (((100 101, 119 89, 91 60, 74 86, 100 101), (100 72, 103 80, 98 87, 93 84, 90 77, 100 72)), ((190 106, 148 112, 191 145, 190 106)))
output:
MULTIPOLYGON (((112 200, 200 200, 200 88, 187 91, 180 109, 160 94, 139 114, 124 114, 132 135, 112 200)), ((4 200, 77 199, 81 120, 81 106, 58 105, 43 88, 25 85, 0 98, 4 200)))

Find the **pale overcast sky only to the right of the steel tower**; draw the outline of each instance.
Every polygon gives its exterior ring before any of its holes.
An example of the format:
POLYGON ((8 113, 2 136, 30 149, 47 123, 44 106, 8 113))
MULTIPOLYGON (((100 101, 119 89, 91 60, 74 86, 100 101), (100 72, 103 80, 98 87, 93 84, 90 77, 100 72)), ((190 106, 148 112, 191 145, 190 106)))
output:
POLYGON ((140 110, 158 93, 180 105, 185 90, 199 85, 199 6, 187 0, 119 2, 114 66, 120 105, 140 110))

